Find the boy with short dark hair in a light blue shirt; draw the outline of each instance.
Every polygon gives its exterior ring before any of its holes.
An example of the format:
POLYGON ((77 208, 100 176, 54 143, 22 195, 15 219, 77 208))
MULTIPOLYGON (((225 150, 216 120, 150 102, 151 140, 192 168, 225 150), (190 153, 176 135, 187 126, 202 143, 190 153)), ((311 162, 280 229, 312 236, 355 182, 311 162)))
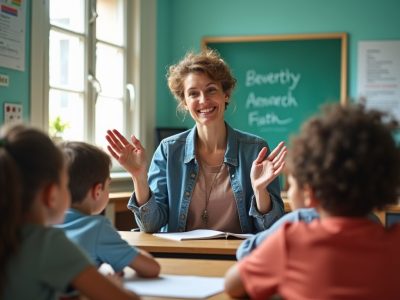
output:
POLYGON ((69 170, 72 205, 62 228, 98 267, 111 265, 120 273, 129 266, 139 276, 157 277, 160 265, 147 252, 130 246, 100 213, 109 201, 111 159, 100 148, 84 142, 60 144, 69 170))

